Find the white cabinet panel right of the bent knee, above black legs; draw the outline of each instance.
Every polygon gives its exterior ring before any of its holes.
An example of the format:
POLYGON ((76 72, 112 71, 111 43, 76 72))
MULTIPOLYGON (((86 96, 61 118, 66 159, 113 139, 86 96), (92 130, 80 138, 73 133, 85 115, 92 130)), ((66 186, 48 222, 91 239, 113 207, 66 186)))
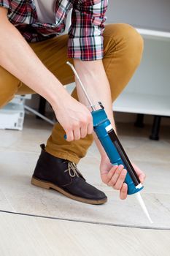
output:
POLYGON ((170 116, 170 37, 159 37, 158 32, 153 35, 149 30, 146 34, 142 63, 113 110, 170 116))

